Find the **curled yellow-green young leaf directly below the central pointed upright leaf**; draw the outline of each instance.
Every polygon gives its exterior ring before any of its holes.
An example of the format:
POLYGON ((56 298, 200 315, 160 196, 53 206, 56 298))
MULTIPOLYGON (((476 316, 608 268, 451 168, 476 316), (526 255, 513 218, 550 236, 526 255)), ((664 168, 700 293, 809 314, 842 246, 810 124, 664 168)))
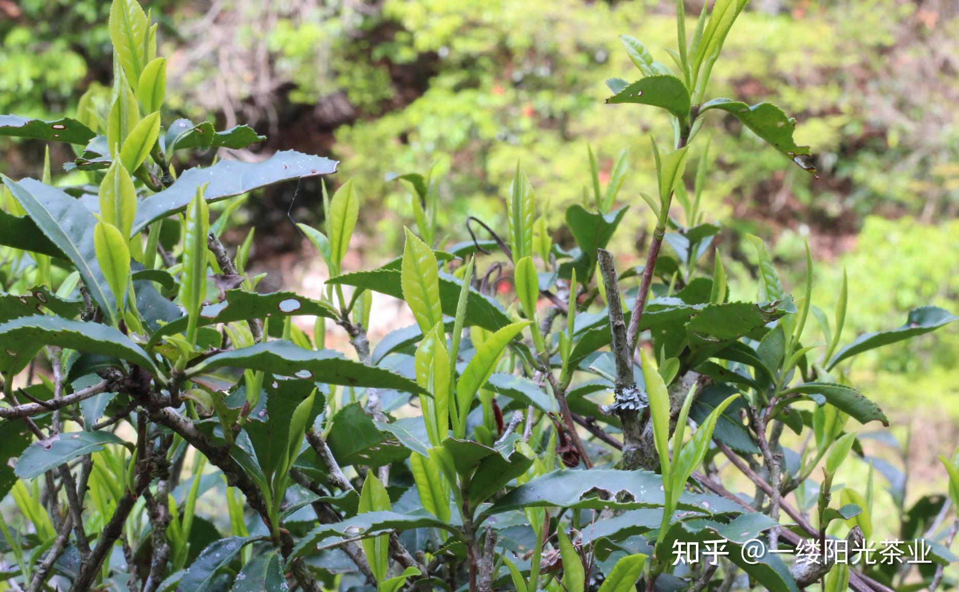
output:
POLYGON ((424 336, 413 356, 416 382, 432 396, 420 394, 420 408, 426 422, 430 443, 438 446, 449 436, 450 425, 450 358, 446 352, 446 334, 443 324, 436 326, 424 336))

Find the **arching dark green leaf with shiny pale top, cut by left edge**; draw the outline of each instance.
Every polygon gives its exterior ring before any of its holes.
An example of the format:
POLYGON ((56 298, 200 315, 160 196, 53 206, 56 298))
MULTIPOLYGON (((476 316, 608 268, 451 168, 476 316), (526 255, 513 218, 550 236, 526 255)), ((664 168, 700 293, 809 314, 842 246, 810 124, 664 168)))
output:
POLYGON ((129 337, 97 322, 67 320, 50 316, 21 317, 0 324, 0 373, 11 376, 30 364, 44 345, 58 345, 78 351, 114 356, 158 374, 150 356, 129 337))

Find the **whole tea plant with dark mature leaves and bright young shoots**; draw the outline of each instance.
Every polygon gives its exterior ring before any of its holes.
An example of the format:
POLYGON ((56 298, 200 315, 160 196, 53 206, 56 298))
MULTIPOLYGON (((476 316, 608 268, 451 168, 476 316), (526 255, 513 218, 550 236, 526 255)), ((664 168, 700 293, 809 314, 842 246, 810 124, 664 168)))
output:
MULTIPOLYGON (((677 3, 678 50, 669 53, 679 76, 622 38, 642 76, 608 81, 608 103, 663 108, 674 130, 672 150, 652 143, 659 186, 642 196, 656 220, 644 265, 618 271, 605 249, 632 205, 617 207, 628 157, 620 154, 604 189, 591 151, 592 192, 566 210, 570 248, 553 243, 519 167, 503 236, 471 218, 472 240, 455 244, 436 226, 440 179, 410 173, 397 178, 416 228, 402 257, 346 272, 361 196, 352 180, 332 196, 324 185, 323 226, 300 225, 329 272, 313 299, 259 292, 263 275, 246 272, 252 231, 232 258, 220 237, 238 196, 331 174, 337 163, 281 152, 180 170, 177 153, 263 138, 245 126, 164 125, 156 25, 133 0, 114 0, 108 105, 84 97, 75 118, 0 118, 5 135, 82 147, 65 168, 91 181, 56 186, 49 161, 41 180, 3 178, 5 585, 940 585, 955 559, 952 512, 943 496, 906 509, 891 465, 883 474, 899 496, 903 544, 922 543, 930 563, 778 553, 798 554, 809 540, 861 545, 879 526, 872 468, 864 486, 835 479, 862 457, 861 439, 882 434, 855 426, 888 425, 844 365, 955 317, 924 307, 900 328, 844 343, 847 286, 831 319, 813 305, 808 249, 797 296, 756 237, 756 301, 729 300, 718 251, 712 266, 701 263, 720 232, 699 208, 705 144, 690 189, 685 178, 709 111, 732 114, 811 170, 778 107, 705 100, 744 4, 718 0, 688 36, 677 3), (228 199, 211 223, 210 204, 228 199), (510 281, 513 290, 501 290, 510 281), (371 348, 373 292, 405 300, 415 324, 371 348), (312 336, 293 317, 316 319, 312 336), (356 359, 324 348, 328 321, 356 359), (723 485, 720 462, 755 493, 723 485), (204 511, 222 500, 225 511, 204 511), (676 560, 720 538, 728 555, 676 560), (744 552, 757 542, 770 552, 744 552)), ((959 456, 942 461, 959 505, 959 456)))

